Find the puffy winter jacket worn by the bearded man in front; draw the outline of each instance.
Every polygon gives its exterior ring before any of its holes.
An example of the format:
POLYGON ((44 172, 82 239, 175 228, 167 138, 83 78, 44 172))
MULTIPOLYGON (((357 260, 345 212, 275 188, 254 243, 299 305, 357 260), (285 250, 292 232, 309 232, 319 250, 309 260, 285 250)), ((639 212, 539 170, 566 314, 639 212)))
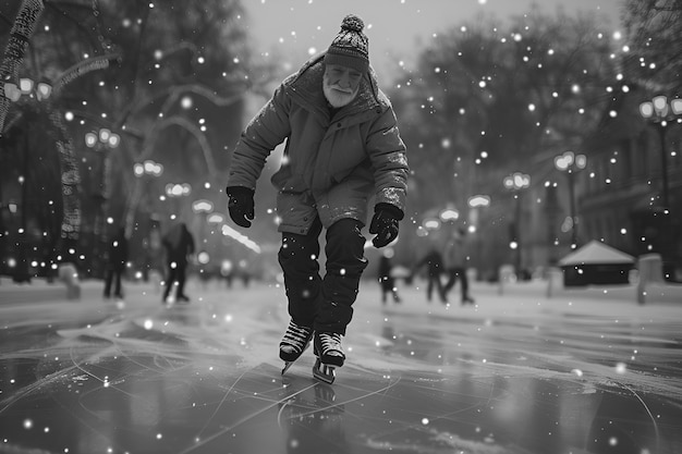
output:
POLYGON ((355 99, 330 118, 322 93, 324 53, 287 77, 248 123, 234 149, 229 186, 256 188, 270 151, 287 140, 277 187, 280 232, 305 234, 319 216, 329 228, 342 218, 365 223, 367 204, 404 210, 407 189, 405 145, 390 101, 374 71, 355 99))

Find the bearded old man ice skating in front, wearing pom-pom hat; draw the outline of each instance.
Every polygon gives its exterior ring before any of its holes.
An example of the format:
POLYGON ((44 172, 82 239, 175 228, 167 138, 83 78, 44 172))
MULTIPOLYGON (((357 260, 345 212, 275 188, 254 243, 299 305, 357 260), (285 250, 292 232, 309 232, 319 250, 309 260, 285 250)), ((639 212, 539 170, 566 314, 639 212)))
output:
POLYGON ((291 321, 280 343, 284 370, 314 338, 315 376, 332 382, 345 360, 341 340, 367 267, 361 230, 374 196, 375 247, 398 236, 406 196, 407 160, 390 101, 369 66, 364 23, 343 19, 327 51, 287 77, 249 122, 234 149, 227 194, 232 220, 251 226, 256 181, 270 151, 287 140, 271 182, 282 243, 291 321), (326 230, 326 273, 319 235, 326 230))

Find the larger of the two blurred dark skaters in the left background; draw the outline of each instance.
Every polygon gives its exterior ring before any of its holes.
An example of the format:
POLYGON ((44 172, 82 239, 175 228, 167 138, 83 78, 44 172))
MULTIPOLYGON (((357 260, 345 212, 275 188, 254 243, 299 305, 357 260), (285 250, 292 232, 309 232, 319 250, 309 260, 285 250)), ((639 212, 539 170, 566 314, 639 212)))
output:
POLYGON ((166 249, 166 290, 163 303, 170 303, 169 296, 174 283, 175 302, 187 303, 190 297, 185 295, 185 280, 187 273, 187 256, 194 254, 194 237, 184 222, 174 224, 161 238, 166 249))

